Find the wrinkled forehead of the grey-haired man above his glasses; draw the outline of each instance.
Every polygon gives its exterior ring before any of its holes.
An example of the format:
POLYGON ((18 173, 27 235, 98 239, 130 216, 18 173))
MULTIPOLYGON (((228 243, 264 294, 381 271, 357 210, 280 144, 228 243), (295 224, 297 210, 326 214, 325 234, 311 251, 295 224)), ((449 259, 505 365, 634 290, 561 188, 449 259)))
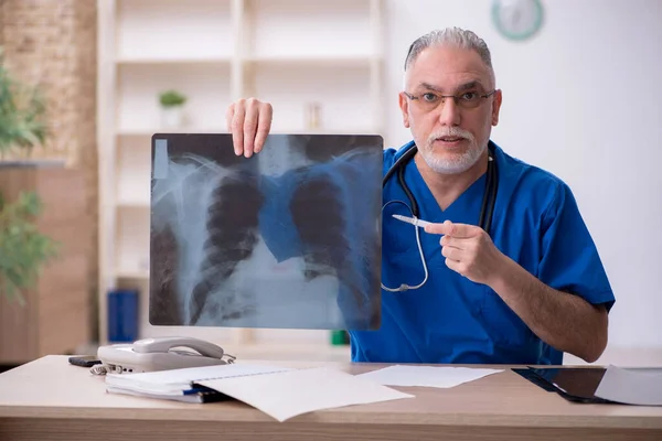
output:
POLYGON ((423 50, 405 73, 405 86, 418 88, 433 85, 442 92, 455 92, 472 84, 477 88, 493 88, 491 69, 478 52, 451 45, 423 50))

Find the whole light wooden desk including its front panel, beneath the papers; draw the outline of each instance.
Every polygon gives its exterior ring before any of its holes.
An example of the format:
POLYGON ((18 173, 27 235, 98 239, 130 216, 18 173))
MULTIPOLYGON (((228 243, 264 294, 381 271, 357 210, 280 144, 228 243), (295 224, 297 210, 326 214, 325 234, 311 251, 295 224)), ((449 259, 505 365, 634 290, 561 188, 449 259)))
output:
MULTIPOLYGON (((327 365, 353 374, 383 367, 327 365)), ((572 404, 504 369, 450 389, 399 388, 412 399, 280 423, 237 401, 106 394, 103 377, 47 356, 0 374, 0 440, 662 440, 662 407, 572 404)))

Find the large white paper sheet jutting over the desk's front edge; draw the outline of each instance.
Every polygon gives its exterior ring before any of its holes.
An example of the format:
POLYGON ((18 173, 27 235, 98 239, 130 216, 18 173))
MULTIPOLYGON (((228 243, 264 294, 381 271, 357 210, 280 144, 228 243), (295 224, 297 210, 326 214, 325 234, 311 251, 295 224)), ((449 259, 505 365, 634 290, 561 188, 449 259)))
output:
POLYGON ((413 395, 329 367, 200 381, 282 422, 323 409, 413 398, 413 395))

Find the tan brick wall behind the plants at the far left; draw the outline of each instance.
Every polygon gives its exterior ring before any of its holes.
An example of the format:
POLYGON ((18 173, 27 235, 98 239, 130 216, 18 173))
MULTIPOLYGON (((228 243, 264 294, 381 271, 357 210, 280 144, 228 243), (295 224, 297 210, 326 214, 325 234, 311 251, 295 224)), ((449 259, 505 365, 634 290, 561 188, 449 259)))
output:
POLYGON ((0 0, 0 44, 21 82, 46 97, 51 137, 33 158, 64 159, 85 174, 90 295, 97 280, 96 1, 0 0))

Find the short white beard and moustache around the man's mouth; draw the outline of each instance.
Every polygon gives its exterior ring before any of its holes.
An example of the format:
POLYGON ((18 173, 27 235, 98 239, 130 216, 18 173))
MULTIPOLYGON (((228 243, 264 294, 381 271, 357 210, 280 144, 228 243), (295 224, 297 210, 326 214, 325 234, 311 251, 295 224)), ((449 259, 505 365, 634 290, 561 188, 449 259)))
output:
POLYGON ((450 128, 448 130, 440 130, 430 133, 426 141, 425 148, 418 150, 425 162, 435 172, 441 174, 457 174, 469 170, 473 164, 476 164, 476 162, 485 151, 487 147, 487 143, 479 146, 476 141, 476 138, 470 132, 458 128, 450 128), (440 154, 436 154, 433 147, 435 140, 449 136, 467 139, 469 141, 469 148, 467 151, 455 158, 445 158, 440 154))

